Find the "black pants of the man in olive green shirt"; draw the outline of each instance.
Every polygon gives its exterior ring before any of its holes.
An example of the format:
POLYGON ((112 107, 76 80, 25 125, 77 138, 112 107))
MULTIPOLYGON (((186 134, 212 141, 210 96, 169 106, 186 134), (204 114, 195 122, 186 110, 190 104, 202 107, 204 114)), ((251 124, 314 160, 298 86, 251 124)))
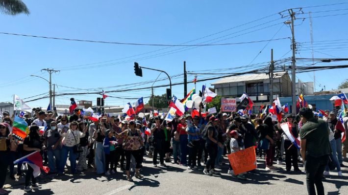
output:
POLYGON ((314 185, 317 187, 317 194, 324 195, 322 176, 329 156, 312 157, 306 155, 304 166, 306 168, 306 183, 308 195, 316 195, 314 185))

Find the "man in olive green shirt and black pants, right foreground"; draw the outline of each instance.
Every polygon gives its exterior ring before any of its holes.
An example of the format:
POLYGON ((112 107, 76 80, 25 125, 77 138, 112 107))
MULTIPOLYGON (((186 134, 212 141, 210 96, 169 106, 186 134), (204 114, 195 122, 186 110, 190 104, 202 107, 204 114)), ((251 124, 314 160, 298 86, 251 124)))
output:
POLYGON ((312 109, 302 108, 299 116, 304 124, 300 129, 301 156, 306 169, 308 195, 324 195, 322 175, 331 153, 329 129, 322 119, 313 116, 312 109))

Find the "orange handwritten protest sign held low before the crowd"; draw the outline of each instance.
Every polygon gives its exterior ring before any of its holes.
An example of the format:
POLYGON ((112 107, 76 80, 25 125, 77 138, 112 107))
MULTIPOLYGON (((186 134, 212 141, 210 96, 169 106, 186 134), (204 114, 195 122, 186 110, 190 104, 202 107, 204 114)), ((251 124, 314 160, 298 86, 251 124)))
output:
POLYGON ((254 147, 228 154, 227 157, 235 175, 257 168, 255 164, 256 153, 254 147))

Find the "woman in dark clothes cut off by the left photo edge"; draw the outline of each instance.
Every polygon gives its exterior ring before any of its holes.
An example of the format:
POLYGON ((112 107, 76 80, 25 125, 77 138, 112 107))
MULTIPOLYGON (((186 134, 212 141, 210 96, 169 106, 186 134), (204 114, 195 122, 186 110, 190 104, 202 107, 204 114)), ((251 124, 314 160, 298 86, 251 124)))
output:
POLYGON ((3 184, 5 183, 8 157, 10 152, 10 139, 8 135, 10 130, 8 129, 8 124, 0 123, 0 194, 8 194, 9 192, 4 190, 3 184))

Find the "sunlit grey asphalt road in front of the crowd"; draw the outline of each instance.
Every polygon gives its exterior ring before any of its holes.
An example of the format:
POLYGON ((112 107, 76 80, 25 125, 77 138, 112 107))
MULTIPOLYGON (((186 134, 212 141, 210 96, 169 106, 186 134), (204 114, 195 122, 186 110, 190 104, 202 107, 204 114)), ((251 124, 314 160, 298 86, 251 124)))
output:
MULTIPOLYGON (((151 160, 146 158, 141 173, 143 179, 133 177, 134 181, 125 180, 125 173, 106 176, 97 175, 92 170, 84 174, 66 174, 54 178, 40 175, 42 189, 25 193, 24 178, 18 181, 6 180, 10 195, 306 195, 305 174, 285 173, 285 166, 278 171, 264 170, 264 160, 258 160, 258 169, 247 173, 247 180, 238 180, 227 174, 228 165, 225 159, 220 175, 204 175, 203 167, 199 170, 187 170, 186 167, 167 163, 167 167, 153 168, 151 160), (11 185, 11 186, 10 186, 11 185)), ((347 162, 344 163, 346 166, 347 162)), ((303 167, 300 167, 303 171, 303 167)), ((220 171, 220 169, 217 169, 220 171)), ((344 177, 337 172, 330 172, 323 182, 325 194, 348 195, 348 168, 342 169, 344 177)), ((134 173, 133 173, 134 174, 134 173)))

